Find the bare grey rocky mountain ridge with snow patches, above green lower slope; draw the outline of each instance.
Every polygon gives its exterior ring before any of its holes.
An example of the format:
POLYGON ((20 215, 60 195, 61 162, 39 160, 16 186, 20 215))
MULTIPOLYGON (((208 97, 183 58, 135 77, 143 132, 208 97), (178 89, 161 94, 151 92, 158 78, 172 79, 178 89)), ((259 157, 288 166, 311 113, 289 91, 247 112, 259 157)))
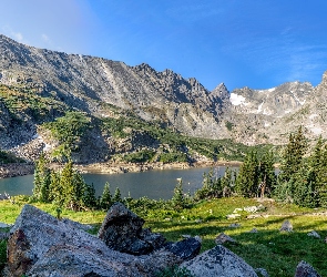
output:
MULTIPOLYGON (((247 145, 283 144, 299 125, 310 138, 327 137, 327 73, 316 88, 292 82, 229 92, 222 83, 208 91, 171 70, 37 49, 0 35, 0 147, 18 153, 27 144, 37 152, 52 147, 40 126, 68 110, 91 122, 132 115, 187 136, 247 145)), ((102 150, 112 145, 112 135, 103 135, 100 125, 91 135, 102 150)))

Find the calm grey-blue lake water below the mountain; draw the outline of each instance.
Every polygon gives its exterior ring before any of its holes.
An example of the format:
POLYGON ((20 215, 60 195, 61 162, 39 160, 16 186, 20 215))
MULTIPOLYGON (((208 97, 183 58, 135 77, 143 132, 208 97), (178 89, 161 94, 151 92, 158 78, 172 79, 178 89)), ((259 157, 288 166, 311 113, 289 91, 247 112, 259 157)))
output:
MULTIPOLYGON (((217 176, 222 176, 225 168, 225 166, 218 166, 214 168, 214 172, 217 176)), ((203 173, 208 171, 208 167, 201 167, 124 174, 83 174, 83 177, 88 184, 94 185, 98 196, 102 194, 105 182, 109 182, 111 193, 113 194, 119 187, 123 197, 130 193, 133 198, 147 196, 152 199, 170 199, 177 178, 183 179, 184 193, 193 194, 202 187, 203 173)), ((0 194, 6 192, 9 195, 31 195, 32 189, 33 175, 0 179, 0 194)))

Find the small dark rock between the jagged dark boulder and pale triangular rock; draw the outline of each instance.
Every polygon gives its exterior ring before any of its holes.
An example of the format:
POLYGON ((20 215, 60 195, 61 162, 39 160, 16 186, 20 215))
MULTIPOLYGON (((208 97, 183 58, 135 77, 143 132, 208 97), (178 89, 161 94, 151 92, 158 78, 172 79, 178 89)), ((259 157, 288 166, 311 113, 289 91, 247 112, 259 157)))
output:
POLYGON ((173 253, 183 260, 188 260, 198 255, 201 242, 196 238, 186 238, 177 243, 167 243, 165 249, 173 253))

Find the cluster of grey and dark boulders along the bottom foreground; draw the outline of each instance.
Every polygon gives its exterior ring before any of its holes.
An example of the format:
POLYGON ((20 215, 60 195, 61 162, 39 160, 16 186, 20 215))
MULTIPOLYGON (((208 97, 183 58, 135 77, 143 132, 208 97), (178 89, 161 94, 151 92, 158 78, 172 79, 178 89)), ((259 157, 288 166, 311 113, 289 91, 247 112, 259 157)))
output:
MULTIPOLYGON (((120 203, 106 214, 99 235, 90 226, 58 219, 25 205, 11 228, 3 276, 156 276, 164 268, 186 268, 193 276, 268 276, 218 244, 198 254, 201 239, 165 242, 161 234, 143 229, 144 220, 120 203)), ((273 263, 273 261, 272 261, 273 263)), ((319 276, 305 261, 296 277, 319 276)))

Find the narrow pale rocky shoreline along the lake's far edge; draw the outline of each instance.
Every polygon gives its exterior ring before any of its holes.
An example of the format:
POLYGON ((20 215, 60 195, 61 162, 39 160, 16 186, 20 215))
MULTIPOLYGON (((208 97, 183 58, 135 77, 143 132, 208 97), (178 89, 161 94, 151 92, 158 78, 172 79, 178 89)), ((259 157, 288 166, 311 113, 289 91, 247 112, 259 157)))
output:
MULTIPOLYGON (((74 164, 74 168, 81 173, 94 174, 122 174, 129 172, 146 172, 146 171, 164 171, 164 170, 188 170, 197 167, 215 167, 215 166, 239 166, 242 162, 233 161, 202 161, 195 163, 93 163, 93 164, 74 164)), ((53 170, 60 170, 63 164, 50 164, 53 170)), ((17 177, 30 175, 34 173, 34 164, 1 164, 0 178, 17 177)))

